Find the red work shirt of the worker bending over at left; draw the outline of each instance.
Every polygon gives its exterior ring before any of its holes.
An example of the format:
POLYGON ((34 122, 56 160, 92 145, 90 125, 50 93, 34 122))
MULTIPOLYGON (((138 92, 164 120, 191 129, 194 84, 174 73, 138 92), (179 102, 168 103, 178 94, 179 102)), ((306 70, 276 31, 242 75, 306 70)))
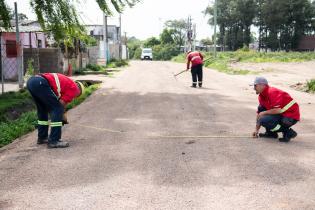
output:
POLYGON ((52 73, 40 74, 40 76, 44 77, 48 81, 51 89, 54 91, 57 97, 59 97, 65 103, 70 103, 80 94, 80 89, 78 88, 77 84, 69 77, 58 73, 56 75, 58 76, 60 83, 60 95, 57 90, 57 83, 54 75, 52 73))

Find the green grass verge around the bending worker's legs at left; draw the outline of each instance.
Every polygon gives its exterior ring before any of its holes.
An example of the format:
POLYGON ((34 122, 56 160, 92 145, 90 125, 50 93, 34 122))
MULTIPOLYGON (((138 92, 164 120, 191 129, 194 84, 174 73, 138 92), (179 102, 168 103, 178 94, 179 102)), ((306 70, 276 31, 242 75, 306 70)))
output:
MULTIPOLYGON (((68 104, 67 110, 81 104, 87 97, 97 90, 99 86, 99 84, 95 84, 87 87, 85 93, 82 96, 74 99, 70 104, 68 104)), ((0 99, 3 116, 6 116, 6 111, 12 109, 12 107, 14 107, 14 109, 21 109, 21 106, 24 106, 23 104, 26 100, 32 100, 31 96, 26 90, 16 93, 6 93, 1 95, 0 99)), ((9 120, 7 117, 3 117, 0 122, 0 147, 10 144, 15 139, 35 129, 37 115, 35 105, 32 101, 31 103, 33 104, 33 108, 26 111, 25 113, 22 113, 16 120, 9 120)))

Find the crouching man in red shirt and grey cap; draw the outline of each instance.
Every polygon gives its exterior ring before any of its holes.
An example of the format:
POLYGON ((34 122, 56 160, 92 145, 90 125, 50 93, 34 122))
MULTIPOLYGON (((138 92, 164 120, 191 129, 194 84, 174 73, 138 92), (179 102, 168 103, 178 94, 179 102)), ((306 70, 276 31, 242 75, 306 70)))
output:
POLYGON ((282 132, 280 142, 289 142, 297 136, 291 128, 300 121, 299 105, 292 97, 277 88, 270 87, 264 77, 257 77, 254 89, 259 95, 256 130, 253 137, 278 138, 282 132), (259 133, 260 127, 266 128, 265 133, 259 133))

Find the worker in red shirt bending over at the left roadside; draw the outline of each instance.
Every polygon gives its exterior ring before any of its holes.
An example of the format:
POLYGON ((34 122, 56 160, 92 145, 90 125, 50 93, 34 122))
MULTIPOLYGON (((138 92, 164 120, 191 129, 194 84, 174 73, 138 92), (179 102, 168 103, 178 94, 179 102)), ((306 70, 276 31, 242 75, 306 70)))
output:
POLYGON ((67 119, 64 118, 65 108, 74 98, 82 94, 83 84, 74 82, 63 74, 44 73, 31 77, 27 81, 27 89, 37 106, 37 144, 48 143, 48 148, 68 147, 68 142, 61 141, 61 128, 63 123, 67 123, 67 119), (48 137, 49 125, 51 132, 48 137))

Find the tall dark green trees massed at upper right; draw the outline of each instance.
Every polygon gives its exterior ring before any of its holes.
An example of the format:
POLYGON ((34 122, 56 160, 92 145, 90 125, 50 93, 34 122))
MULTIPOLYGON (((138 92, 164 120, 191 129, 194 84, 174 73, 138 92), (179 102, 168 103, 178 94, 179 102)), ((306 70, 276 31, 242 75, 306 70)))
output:
MULTIPOLYGON (((217 0, 218 42, 237 50, 251 41, 251 27, 259 30, 259 46, 296 49, 303 35, 314 34, 315 3, 311 0, 217 0)), ((205 10, 213 25, 214 8, 205 10)))

